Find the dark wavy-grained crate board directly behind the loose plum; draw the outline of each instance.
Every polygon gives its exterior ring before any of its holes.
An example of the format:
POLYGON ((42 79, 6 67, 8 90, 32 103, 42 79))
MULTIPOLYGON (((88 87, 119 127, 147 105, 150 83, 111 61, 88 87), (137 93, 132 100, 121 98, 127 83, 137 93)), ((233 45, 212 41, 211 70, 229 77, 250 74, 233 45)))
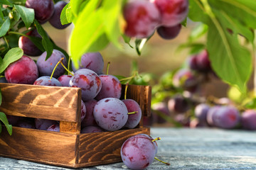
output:
POLYGON ((129 137, 140 133, 149 135, 149 128, 81 134, 78 167, 122 161, 122 144, 129 137))

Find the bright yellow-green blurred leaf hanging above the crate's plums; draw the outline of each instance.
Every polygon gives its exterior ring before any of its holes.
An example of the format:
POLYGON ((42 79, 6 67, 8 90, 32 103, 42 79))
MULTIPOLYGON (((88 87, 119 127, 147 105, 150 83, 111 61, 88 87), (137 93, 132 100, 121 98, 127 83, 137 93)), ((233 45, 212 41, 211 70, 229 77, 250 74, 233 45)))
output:
MULTIPOLYGON (((78 66, 80 57, 88 50, 95 41, 104 33, 101 22, 101 12, 95 10, 97 1, 89 1, 75 22, 75 28, 70 36, 69 48, 75 66, 78 66), (86 31, 85 31, 86 28, 86 31)), ((97 51, 103 47, 97 46, 97 51)))

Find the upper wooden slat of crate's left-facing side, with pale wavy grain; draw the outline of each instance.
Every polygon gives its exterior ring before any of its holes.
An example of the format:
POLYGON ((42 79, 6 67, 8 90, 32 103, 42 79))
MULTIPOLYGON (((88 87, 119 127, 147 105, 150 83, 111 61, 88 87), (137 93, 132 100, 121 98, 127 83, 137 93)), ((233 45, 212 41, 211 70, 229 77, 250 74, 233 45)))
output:
POLYGON ((0 83, 0 89, 0 111, 7 115, 78 121, 79 88, 0 83))

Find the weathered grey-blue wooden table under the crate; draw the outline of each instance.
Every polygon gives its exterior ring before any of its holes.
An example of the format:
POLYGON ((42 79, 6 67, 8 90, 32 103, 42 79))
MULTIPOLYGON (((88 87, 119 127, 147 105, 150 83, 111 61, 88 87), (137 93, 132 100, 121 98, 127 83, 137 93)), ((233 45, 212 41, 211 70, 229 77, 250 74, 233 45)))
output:
MULTIPOLYGON (((256 131, 151 128, 161 137, 156 160, 147 169, 256 169, 256 131)), ((0 157, 0 169, 66 169, 0 157)), ((122 162, 84 169, 127 169, 122 162)))

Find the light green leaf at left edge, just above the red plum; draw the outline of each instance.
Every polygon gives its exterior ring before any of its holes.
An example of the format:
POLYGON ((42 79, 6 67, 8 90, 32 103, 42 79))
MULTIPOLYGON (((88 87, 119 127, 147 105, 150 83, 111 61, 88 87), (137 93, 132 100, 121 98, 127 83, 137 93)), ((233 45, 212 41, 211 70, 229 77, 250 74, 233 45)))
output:
POLYGON ((4 56, 3 62, 0 65, 0 73, 4 72, 4 70, 16 60, 20 59, 23 56, 23 50, 19 47, 11 48, 6 55, 4 56))

